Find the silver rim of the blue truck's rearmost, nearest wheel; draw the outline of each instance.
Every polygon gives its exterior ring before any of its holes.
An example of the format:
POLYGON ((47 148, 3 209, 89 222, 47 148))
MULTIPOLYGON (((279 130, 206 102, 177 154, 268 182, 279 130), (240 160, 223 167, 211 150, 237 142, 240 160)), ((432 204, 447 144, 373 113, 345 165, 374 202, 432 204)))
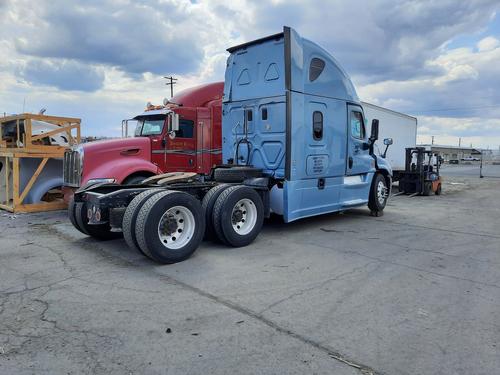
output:
POLYGON ((184 206, 169 208, 158 223, 158 237, 167 249, 178 250, 193 237, 196 223, 193 213, 184 206))

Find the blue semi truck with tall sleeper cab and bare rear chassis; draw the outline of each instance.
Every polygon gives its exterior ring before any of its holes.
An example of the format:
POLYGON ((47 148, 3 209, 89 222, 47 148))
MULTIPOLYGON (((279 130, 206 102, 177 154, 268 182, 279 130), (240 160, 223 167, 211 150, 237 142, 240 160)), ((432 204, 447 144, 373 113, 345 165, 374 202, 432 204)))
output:
MULTIPOLYGON (((78 230, 101 239, 123 233, 130 247, 173 263, 203 238, 248 245, 271 213, 285 222, 365 205, 382 214, 392 171, 374 152, 378 120, 366 134, 363 107, 339 63, 289 27, 228 52, 223 164, 209 176, 87 185, 70 202, 78 230)), ((177 126, 170 116, 169 129, 177 126)), ((386 150, 391 143, 384 140, 386 150)))

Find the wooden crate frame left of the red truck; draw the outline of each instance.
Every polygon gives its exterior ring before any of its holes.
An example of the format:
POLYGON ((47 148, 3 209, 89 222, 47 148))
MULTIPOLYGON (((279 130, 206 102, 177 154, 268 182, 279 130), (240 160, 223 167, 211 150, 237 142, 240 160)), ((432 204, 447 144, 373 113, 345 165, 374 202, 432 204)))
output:
MULTIPOLYGON (((61 163, 69 146, 80 143, 80 119, 24 113, 0 118, 0 209, 10 212, 40 212, 64 209, 62 194, 49 191, 40 202, 26 203, 26 197, 38 182, 44 179, 47 165, 61 163), (33 124, 50 124, 50 131, 36 134, 33 124), (51 139, 58 137, 67 144, 58 145, 51 139), (23 170, 23 166, 33 170, 23 170), (26 174, 30 173, 29 179, 26 174), (32 173, 32 174, 31 174, 32 173), (23 177, 23 178, 21 178, 23 177), (24 180, 24 183, 23 181, 24 180)), ((53 172, 53 169, 52 169, 53 172)))

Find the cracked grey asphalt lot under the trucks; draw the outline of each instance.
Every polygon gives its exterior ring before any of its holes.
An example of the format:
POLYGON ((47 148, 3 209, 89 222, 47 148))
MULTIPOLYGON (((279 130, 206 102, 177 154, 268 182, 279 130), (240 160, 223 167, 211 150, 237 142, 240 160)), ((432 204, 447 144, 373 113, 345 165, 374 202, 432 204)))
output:
POLYGON ((174 265, 2 212, 0 374, 496 374, 500 180, 452 168, 174 265))

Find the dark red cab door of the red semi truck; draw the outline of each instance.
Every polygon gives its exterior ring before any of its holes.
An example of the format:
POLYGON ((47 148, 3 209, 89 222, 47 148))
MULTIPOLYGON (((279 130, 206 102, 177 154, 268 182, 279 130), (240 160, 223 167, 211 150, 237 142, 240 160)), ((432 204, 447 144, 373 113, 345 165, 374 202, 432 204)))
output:
POLYGON ((178 108, 179 130, 172 138, 166 135, 166 171, 167 172, 196 172, 197 137, 196 137, 196 109, 178 108))

